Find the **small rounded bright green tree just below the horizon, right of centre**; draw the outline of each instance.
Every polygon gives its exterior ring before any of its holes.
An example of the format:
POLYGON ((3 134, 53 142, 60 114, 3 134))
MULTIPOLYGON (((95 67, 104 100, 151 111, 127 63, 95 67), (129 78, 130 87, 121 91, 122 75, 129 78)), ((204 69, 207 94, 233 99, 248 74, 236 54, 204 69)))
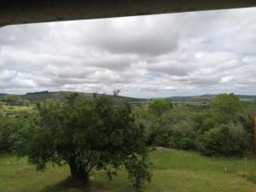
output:
POLYGON ((149 103, 149 109, 157 116, 161 116, 163 113, 172 108, 173 105, 170 100, 157 99, 149 103))

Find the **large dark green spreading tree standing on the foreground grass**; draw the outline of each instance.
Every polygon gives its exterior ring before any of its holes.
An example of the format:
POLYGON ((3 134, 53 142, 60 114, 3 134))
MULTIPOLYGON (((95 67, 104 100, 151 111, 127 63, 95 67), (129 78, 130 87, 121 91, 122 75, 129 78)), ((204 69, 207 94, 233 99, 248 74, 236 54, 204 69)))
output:
POLYGON ((64 161, 73 181, 81 185, 89 182, 93 168, 104 169, 111 177, 112 169, 148 154, 143 126, 136 124, 131 105, 113 96, 86 100, 73 94, 65 103, 43 102, 38 111, 38 125, 21 136, 17 151, 38 170, 48 162, 64 161))

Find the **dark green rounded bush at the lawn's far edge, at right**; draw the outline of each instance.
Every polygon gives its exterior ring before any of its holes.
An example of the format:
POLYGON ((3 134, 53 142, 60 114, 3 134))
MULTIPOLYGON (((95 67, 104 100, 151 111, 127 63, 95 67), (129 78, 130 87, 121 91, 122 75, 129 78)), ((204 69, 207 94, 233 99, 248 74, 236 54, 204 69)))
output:
POLYGON ((201 136, 198 148, 206 155, 241 155, 247 148, 247 134, 240 124, 218 125, 201 136))

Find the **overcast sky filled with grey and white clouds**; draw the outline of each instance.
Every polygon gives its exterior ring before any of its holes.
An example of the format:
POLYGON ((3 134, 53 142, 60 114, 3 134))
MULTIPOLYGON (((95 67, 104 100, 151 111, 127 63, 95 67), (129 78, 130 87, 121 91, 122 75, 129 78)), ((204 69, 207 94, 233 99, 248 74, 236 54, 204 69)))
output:
POLYGON ((0 92, 256 95, 256 8, 0 27, 0 92))

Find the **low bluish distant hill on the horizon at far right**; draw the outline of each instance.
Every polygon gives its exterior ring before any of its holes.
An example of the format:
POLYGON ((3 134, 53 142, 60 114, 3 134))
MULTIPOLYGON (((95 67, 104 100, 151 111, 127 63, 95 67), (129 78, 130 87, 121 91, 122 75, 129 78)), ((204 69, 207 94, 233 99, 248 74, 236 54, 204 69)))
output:
MULTIPOLYGON (((169 96, 166 99, 171 99, 174 102, 210 102, 217 95, 201 95, 201 96, 169 96)), ((256 99, 256 96, 236 95, 241 101, 250 102, 256 99)))

